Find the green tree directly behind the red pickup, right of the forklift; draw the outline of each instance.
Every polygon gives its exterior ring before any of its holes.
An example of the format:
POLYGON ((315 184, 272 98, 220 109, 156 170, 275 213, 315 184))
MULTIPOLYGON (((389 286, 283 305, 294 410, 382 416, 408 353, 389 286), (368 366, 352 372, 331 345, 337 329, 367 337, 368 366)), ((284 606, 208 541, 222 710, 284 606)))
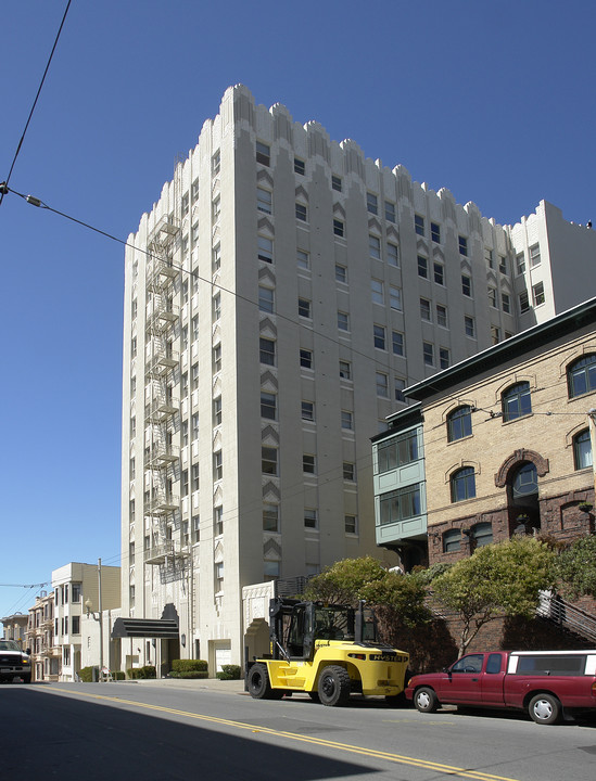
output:
POLYGON ((459 655, 490 620, 531 618, 542 589, 556 580, 556 554, 533 537, 484 546, 432 581, 434 597, 461 622, 459 655))

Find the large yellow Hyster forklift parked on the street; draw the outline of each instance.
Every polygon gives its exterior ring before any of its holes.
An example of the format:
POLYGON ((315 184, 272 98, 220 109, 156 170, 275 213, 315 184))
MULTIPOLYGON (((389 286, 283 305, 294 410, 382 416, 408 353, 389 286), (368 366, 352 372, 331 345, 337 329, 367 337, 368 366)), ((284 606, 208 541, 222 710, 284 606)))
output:
POLYGON ((246 664, 256 700, 306 692, 324 705, 345 705, 352 693, 398 704, 409 656, 377 640, 371 610, 277 597, 269 604, 270 653, 246 664))

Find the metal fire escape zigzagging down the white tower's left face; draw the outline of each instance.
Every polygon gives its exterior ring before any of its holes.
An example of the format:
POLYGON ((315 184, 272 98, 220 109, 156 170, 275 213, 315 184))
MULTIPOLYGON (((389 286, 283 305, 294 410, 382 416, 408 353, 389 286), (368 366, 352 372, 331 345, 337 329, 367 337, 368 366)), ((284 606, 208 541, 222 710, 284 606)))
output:
POLYGON ((174 350, 180 309, 174 304, 179 268, 173 264, 179 227, 172 217, 163 217, 149 236, 147 264, 147 344, 145 361, 145 449, 144 469, 149 489, 144 492, 144 515, 151 518, 150 545, 144 563, 165 573, 180 567, 186 553, 172 539, 180 512, 180 497, 173 492, 180 448, 174 443, 176 414, 180 399, 175 394, 179 355, 174 350))

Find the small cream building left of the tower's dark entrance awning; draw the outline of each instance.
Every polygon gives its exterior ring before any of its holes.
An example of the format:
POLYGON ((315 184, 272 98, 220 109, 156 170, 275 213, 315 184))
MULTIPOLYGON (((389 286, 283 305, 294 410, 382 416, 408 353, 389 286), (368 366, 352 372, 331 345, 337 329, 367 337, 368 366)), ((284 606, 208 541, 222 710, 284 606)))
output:
POLYGON ((111 653, 111 611, 121 606, 121 568, 72 562, 52 572, 54 590, 54 643, 61 649, 61 681, 76 680, 81 667, 100 664, 99 622, 103 640, 103 661, 111 653), (101 612, 100 612, 101 582, 101 612), (97 627, 94 625, 98 625, 97 627), (84 631, 85 625, 85 631, 84 631), (85 663, 81 658, 85 641, 85 663), (88 648, 97 655, 89 661, 88 648))

